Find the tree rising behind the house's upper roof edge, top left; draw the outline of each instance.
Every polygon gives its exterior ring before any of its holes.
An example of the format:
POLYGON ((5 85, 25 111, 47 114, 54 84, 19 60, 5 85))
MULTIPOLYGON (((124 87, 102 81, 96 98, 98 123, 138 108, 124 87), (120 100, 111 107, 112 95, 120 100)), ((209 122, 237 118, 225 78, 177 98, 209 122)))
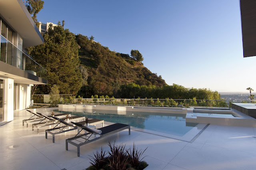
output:
POLYGON ((39 26, 39 22, 36 19, 36 14, 44 8, 44 1, 42 0, 27 0, 24 2, 27 7, 28 12, 32 15, 32 19, 36 23, 36 26, 39 26))

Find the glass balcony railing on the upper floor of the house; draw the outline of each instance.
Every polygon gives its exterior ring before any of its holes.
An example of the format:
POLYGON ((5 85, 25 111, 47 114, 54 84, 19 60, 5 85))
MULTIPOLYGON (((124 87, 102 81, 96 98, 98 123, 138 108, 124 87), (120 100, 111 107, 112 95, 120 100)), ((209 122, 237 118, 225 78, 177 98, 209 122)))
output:
POLYGON ((34 61, 26 50, 21 51, 2 35, 0 35, 0 38, 0 61, 29 72, 35 76, 44 77, 47 70, 34 61))

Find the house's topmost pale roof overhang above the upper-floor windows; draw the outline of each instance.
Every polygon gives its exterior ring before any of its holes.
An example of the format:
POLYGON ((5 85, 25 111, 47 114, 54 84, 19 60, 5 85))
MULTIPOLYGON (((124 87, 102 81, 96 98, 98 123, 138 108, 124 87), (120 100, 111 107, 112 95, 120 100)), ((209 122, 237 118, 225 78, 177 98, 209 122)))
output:
POLYGON ((44 43, 44 38, 22 0, 0 0, 0 15, 23 39, 23 48, 44 43))

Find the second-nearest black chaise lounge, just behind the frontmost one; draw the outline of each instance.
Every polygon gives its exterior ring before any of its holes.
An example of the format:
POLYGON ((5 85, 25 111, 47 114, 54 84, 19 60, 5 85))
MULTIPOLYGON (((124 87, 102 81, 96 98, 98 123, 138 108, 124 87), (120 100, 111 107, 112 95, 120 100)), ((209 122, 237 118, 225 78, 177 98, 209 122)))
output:
MULTIPOLYGON (((51 116, 52 118, 54 118, 55 120, 59 121, 59 123, 52 129, 47 129, 45 130, 45 138, 47 139, 47 134, 51 134, 52 135, 52 142, 54 143, 55 142, 55 135, 56 134, 60 134, 60 133, 63 133, 63 132, 68 132, 70 130, 76 130, 77 129, 77 126, 73 126, 72 124, 69 124, 68 122, 65 122, 64 120, 60 119, 60 118, 56 118, 56 117, 53 117, 51 116), (64 126, 60 126, 60 124, 64 124, 64 126), (57 127, 58 126, 58 127, 57 127), (68 129, 66 129, 68 128, 68 129)), ((85 121, 82 121, 82 122, 78 122, 79 124, 81 125, 84 125, 85 124, 85 121)), ((100 119, 90 119, 88 121, 89 124, 98 124, 98 123, 102 123, 102 125, 104 126, 104 120, 100 120, 100 119), (103 121, 103 123, 102 123, 103 121)))

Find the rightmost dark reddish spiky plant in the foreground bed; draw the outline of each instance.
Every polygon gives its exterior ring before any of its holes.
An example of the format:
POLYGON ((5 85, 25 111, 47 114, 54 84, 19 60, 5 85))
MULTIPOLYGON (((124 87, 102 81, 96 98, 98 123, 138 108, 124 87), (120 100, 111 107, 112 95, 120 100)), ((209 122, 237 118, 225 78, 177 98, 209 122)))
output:
POLYGON ((140 165, 140 162, 142 161, 142 159, 146 157, 146 156, 144 156, 142 158, 142 154, 146 151, 146 149, 144 151, 138 150, 138 148, 136 148, 135 144, 133 143, 133 148, 132 149, 130 148, 130 149, 126 150, 128 156, 131 160, 130 164, 133 168, 137 169, 138 166, 140 165))

